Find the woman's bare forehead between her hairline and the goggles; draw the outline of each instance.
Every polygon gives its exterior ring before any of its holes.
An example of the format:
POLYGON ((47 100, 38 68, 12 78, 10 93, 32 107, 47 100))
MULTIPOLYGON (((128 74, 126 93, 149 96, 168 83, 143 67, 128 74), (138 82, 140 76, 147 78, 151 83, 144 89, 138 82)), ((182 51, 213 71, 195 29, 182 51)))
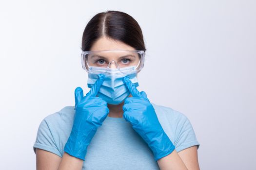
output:
POLYGON ((90 51, 100 50, 136 50, 135 48, 112 38, 100 37, 92 46, 90 51))

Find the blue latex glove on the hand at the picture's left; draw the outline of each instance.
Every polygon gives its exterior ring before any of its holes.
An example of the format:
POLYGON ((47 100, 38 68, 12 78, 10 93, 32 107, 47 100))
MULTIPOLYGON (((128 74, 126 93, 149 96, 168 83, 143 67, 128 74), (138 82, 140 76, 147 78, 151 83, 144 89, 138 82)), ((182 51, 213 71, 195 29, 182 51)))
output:
POLYGON ((83 96, 81 87, 75 90, 75 116, 72 131, 65 144, 64 151, 71 156, 84 160, 87 147, 99 126, 106 119, 109 109, 107 102, 96 97, 104 81, 104 75, 99 74, 98 80, 91 90, 83 96))

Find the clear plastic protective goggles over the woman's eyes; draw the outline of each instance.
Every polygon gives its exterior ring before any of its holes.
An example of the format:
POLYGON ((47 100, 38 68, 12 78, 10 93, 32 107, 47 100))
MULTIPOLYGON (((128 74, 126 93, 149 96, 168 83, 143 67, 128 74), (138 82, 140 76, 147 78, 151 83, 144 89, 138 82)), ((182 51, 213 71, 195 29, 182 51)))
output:
POLYGON ((144 66, 144 57, 145 52, 139 50, 82 51, 81 62, 82 68, 87 72, 94 68, 102 68, 107 71, 114 67, 119 71, 131 67, 138 72, 144 66))

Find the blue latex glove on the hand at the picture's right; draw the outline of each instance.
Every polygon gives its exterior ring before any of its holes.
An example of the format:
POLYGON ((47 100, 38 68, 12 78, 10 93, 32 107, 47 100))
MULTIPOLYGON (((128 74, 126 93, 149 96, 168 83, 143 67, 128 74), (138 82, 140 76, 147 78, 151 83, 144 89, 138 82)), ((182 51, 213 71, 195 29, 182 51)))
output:
POLYGON ((146 93, 139 92, 128 77, 124 77, 123 81, 133 96, 124 100, 124 119, 129 121, 133 129, 147 142, 156 161, 172 153, 175 146, 163 131, 146 93))

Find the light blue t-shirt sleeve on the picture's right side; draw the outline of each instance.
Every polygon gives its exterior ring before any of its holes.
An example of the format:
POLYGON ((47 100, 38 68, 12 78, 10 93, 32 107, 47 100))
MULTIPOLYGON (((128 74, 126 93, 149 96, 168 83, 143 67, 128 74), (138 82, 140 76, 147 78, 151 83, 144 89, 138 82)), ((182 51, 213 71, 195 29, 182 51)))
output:
POLYGON ((176 151, 182 151, 186 148, 197 146, 199 148, 199 142, 197 141, 196 134, 192 127, 189 119, 182 113, 175 111, 176 114, 176 131, 175 131, 175 141, 174 145, 176 151))

